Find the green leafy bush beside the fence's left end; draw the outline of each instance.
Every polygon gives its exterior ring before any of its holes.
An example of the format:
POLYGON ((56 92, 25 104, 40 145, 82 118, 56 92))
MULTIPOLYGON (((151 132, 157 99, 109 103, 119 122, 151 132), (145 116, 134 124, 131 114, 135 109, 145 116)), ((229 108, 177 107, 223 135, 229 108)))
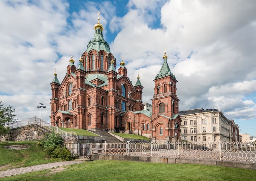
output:
POLYGON ((72 156, 70 151, 66 147, 62 147, 63 139, 59 134, 52 132, 51 134, 46 134, 38 143, 38 146, 44 148, 45 156, 50 156, 51 158, 60 158, 62 160, 71 160, 72 156))

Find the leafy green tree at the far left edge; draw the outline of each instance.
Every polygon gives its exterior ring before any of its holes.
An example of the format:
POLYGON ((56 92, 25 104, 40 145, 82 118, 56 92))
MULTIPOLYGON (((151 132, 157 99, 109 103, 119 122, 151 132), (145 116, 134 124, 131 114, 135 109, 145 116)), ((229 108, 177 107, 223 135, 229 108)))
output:
POLYGON ((6 124, 9 124, 13 121, 16 121, 14 114, 15 109, 12 109, 12 106, 6 106, 2 104, 0 101, 0 135, 5 134, 8 132, 9 127, 4 127, 6 124))

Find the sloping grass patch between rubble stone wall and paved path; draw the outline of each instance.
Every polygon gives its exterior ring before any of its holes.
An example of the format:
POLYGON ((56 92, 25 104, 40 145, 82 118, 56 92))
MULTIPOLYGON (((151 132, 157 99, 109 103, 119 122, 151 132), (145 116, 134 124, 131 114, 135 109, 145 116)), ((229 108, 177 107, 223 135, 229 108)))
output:
POLYGON ((58 158, 46 158, 43 149, 36 146, 36 143, 36 141, 0 142, 0 170, 61 161, 58 158), (23 144, 28 144, 30 148, 22 150, 3 148, 4 146, 23 144))

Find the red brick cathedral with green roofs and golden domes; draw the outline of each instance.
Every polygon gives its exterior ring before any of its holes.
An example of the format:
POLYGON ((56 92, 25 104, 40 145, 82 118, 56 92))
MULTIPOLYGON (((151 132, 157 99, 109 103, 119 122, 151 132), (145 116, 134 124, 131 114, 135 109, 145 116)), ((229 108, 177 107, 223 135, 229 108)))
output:
POLYGON ((153 142, 177 141, 181 125, 177 80, 168 66, 166 52, 154 79, 152 112, 143 110, 140 77, 132 85, 123 59, 116 71, 116 58, 103 38, 99 20, 78 66, 74 65, 71 56, 61 83, 56 72, 54 74, 50 103, 52 125, 113 132, 122 130, 147 136, 153 142))

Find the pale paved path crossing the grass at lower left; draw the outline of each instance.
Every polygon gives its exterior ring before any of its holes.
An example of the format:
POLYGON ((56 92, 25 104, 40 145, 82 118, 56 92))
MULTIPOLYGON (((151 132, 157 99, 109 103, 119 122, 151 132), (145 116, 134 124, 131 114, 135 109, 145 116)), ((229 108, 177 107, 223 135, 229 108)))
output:
POLYGON ((22 168, 17 168, 17 169, 10 169, 10 170, 5 170, 5 171, 0 171, 0 178, 12 176, 12 175, 18 175, 18 174, 22 174, 22 173, 28 173, 28 172, 32 172, 32 171, 60 167, 60 166, 64 166, 64 165, 82 163, 82 162, 84 162, 84 161, 72 160, 72 161, 66 161, 66 162, 54 162, 54 163, 46 163, 46 164, 41 164, 41 165, 29 166, 29 167, 22 167, 22 168))

